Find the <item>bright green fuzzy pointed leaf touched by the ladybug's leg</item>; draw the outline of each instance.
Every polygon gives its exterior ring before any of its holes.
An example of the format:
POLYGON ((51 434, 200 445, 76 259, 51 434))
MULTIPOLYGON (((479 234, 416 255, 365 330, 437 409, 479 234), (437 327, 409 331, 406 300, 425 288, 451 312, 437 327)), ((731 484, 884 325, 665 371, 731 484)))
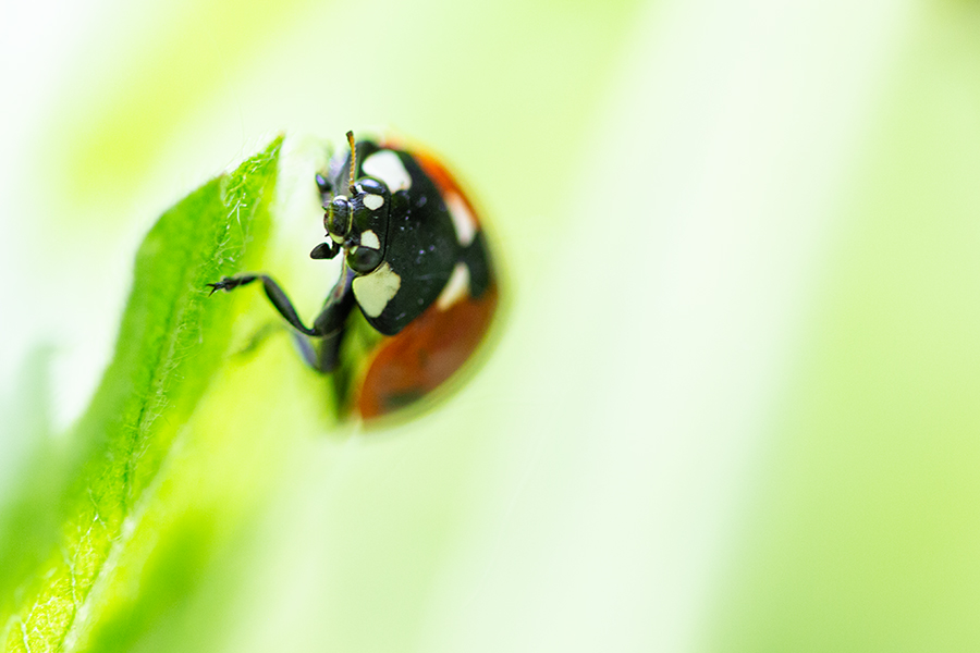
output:
MULTIPOLYGON (((17 546, 0 545, 0 555, 14 556, 0 564, 7 650, 72 649, 98 618, 93 590, 115 574, 138 530, 139 506, 226 358, 240 300, 208 301, 206 284, 258 260, 281 145, 277 138, 192 193, 143 242, 114 357, 60 468, 57 527, 32 529, 22 520, 0 533, 0 542, 16 541, 23 529, 35 534, 26 567, 22 550, 17 557, 17 546), (37 544, 37 533, 47 532, 47 543, 37 544)), ((49 518, 39 510, 36 521, 49 518)))

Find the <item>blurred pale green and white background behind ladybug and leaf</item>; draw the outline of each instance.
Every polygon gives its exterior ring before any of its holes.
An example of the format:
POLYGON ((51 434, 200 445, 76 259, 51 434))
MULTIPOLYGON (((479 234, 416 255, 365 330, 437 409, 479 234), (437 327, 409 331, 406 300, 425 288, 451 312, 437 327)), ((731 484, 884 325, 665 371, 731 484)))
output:
POLYGON ((511 291, 384 432, 330 430, 285 338, 216 379, 68 650, 980 648, 980 4, 23 4, 0 493, 86 405, 154 220, 281 131, 267 268, 305 316, 348 128, 442 152, 511 291))

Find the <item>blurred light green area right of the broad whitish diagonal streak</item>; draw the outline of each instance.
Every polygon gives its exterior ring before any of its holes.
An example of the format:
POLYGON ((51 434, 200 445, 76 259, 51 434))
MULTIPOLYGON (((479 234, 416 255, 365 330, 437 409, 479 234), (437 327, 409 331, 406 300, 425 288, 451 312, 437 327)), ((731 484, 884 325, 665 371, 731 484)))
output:
POLYGON ((978 36, 940 3, 891 73, 707 650, 980 642, 978 36))

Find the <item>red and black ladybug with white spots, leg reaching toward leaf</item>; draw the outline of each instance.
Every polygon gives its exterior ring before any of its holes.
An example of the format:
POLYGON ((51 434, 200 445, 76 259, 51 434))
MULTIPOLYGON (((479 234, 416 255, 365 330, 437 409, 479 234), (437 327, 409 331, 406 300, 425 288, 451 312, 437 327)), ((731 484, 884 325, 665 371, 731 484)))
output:
POLYGON ((343 266, 313 326, 267 274, 208 285, 213 294, 260 280, 306 361, 333 374, 342 409, 369 420, 415 404, 470 358, 497 310, 498 282, 473 205, 434 157, 355 143, 352 132, 347 144, 316 175, 327 234, 309 256, 342 252, 343 266))

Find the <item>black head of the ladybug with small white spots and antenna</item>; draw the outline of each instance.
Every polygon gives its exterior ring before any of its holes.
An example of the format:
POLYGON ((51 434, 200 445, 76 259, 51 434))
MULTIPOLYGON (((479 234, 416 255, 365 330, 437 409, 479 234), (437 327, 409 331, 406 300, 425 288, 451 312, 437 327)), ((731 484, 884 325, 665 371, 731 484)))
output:
MULTIPOLYGON (((332 259, 341 249, 347 267, 357 274, 372 272, 384 260, 384 241, 388 236, 388 213, 391 193, 388 186, 369 176, 355 182, 354 136, 351 143, 351 177, 348 195, 335 194, 323 207, 323 227, 328 241, 317 245, 309 254, 315 259, 332 259)), ((332 190, 318 175, 321 190, 332 190)))

